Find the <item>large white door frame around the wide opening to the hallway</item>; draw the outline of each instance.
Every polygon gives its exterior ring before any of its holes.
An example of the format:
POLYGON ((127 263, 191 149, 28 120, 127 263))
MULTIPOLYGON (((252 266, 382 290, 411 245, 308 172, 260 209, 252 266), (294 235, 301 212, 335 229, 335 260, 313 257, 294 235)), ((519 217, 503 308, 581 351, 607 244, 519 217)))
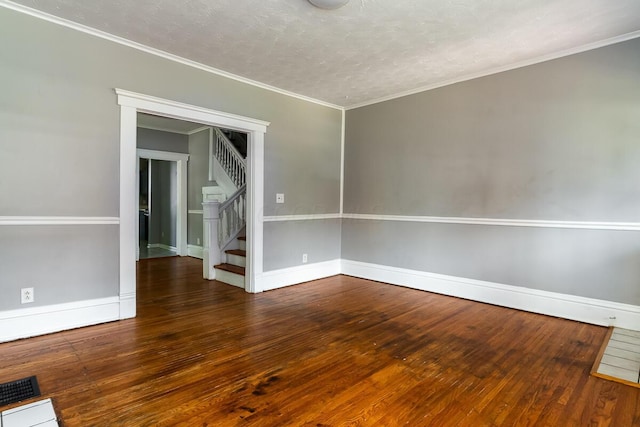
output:
POLYGON ((245 290, 262 292, 264 134, 269 122, 115 89, 120 105, 120 318, 136 315, 137 114, 188 120, 248 134, 245 290))

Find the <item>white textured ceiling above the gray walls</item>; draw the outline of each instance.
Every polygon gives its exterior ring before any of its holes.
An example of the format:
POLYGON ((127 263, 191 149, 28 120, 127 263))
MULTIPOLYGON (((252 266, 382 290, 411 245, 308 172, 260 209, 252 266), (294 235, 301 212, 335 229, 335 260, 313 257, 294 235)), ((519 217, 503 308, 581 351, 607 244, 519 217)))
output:
POLYGON ((640 30, 640 0, 17 0, 340 106, 640 30))

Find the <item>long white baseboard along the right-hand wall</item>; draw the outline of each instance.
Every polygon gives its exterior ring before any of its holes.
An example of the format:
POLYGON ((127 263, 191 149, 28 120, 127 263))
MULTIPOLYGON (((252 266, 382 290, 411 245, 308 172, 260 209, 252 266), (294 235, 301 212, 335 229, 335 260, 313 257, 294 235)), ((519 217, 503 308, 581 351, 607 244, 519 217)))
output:
POLYGON ((640 306, 342 260, 342 274, 601 326, 640 329, 640 306))

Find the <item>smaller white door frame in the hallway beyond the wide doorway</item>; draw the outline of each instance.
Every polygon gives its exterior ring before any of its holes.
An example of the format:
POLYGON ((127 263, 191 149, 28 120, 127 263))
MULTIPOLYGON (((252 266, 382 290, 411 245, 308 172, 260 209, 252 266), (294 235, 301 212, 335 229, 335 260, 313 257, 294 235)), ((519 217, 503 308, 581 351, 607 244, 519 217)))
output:
MULTIPOLYGON (((140 159, 164 160, 167 162, 176 162, 176 187, 178 192, 178 200, 176 200, 176 249, 180 256, 187 255, 187 162, 189 155, 183 153, 173 153, 170 151, 145 150, 138 148, 136 150, 136 186, 140 187, 140 159)), ((151 195, 149 195, 151 197, 151 195)), ((140 206, 140 192, 137 193, 137 204, 140 206)), ((151 200, 151 199, 149 199, 151 200)), ((151 207, 151 206, 149 206, 151 207)), ((140 235, 139 221, 136 222, 136 236, 140 235)), ((136 259, 140 259, 140 247, 136 250, 136 259)))

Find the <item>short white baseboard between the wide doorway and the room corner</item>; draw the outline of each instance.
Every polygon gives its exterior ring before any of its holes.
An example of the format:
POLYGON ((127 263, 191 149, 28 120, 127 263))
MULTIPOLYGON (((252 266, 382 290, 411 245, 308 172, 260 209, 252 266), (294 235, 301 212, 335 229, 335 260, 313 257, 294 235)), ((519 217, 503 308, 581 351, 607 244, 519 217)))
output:
POLYGON ((340 274, 340 260, 336 259, 267 271, 260 276, 260 285, 263 291, 270 291, 338 274, 340 274))

